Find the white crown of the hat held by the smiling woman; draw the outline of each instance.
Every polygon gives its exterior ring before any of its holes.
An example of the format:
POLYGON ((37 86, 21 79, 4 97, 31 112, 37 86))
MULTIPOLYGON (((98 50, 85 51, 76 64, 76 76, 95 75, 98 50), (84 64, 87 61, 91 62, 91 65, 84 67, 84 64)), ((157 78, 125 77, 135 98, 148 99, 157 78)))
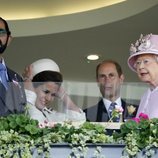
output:
POLYGON ((42 71, 55 71, 60 73, 59 66, 52 59, 39 59, 32 63, 32 75, 33 77, 42 71))

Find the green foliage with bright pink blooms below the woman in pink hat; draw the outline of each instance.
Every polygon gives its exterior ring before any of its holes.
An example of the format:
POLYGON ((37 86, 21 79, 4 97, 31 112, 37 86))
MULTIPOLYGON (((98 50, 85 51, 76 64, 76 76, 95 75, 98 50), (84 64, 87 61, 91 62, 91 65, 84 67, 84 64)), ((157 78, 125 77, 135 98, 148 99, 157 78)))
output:
POLYGON ((140 113, 139 118, 133 118, 121 125, 121 133, 115 133, 115 138, 124 140, 124 155, 126 158, 136 158, 143 151, 145 158, 155 154, 158 147, 158 119, 149 119, 140 113))

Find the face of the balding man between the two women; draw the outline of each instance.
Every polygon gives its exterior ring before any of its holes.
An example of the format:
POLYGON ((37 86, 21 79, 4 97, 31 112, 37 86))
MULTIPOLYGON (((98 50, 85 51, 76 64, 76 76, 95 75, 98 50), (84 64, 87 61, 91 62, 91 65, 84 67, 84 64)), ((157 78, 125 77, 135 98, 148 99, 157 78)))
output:
POLYGON ((102 96, 108 100, 115 101, 120 97, 120 86, 124 76, 119 76, 113 63, 103 63, 98 68, 97 82, 102 96))

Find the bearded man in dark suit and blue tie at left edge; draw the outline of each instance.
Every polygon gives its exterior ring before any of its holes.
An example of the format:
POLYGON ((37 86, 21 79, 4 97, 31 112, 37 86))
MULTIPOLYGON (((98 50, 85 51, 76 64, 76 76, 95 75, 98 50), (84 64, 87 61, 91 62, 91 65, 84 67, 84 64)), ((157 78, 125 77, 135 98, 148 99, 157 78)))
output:
POLYGON ((22 78, 6 66, 2 57, 11 38, 7 22, 0 17, 0 116, 22 113, 26 104, 22 78))

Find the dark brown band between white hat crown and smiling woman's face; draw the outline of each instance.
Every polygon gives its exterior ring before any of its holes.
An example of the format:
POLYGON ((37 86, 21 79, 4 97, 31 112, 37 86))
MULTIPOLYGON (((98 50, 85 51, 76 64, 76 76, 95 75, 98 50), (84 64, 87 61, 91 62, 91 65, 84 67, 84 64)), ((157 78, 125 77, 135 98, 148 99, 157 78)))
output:
POLYGON ((35 88, 44 84, 44 82, 55 82, 60 86, 63 82, 63 77, 56 71, 42 71, 36 74, 32 79, 32 83, 35 88))

